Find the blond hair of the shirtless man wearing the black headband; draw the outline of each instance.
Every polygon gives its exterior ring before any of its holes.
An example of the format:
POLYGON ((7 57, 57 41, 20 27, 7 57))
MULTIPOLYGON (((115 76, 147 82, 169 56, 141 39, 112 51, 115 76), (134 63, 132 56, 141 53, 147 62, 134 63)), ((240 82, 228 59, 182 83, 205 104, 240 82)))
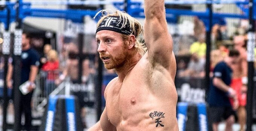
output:
MULTIPOLYGON (((97 23, 97 27, 99 27, 99 24, 101 24, 101 22, 109 16, 119 16, 120 19, 123 19, 123 21, 120 20, 119 23, 117 23, 117 24, 122 24, 121 28, 124 28, 125 25, 129 22, 130 23, 130 28, 132 30, 131 34, 134 34, 134 36, 136 37, 134 47, 136 48, 136 50, 139 52, 140 55, 144 55, 146 53, 147 47, 146 47, 146 44, 143 40, 143 26, 142 26, 142 24, 140 24, 140 22, 137 19, 133 18, 132 16, 130 16, 126 12, 123 12, 123 11, 120 11, 120 10, 117 10, 116 12, 113 12, 112 10, 109 10, 109 9, 99 11, 94 16, 94 19, 99 15, 99 13, 102 13, 102 17, 99 19, 99 21, 97 23)), ((125 40, 125 38, 127 38, 130 35, 122 34, 123 40, 125 40)))

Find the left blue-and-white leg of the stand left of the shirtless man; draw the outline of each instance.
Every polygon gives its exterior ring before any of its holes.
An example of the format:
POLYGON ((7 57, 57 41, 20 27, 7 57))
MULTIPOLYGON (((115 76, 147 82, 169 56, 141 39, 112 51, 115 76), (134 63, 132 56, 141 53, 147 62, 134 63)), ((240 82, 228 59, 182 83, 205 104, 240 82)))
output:
POLYGON ((56 103, 58 97, 49 98, 49 106, 47 111, 46 128, 45 131, 53 131, 53 122, 56 111, 56 103))

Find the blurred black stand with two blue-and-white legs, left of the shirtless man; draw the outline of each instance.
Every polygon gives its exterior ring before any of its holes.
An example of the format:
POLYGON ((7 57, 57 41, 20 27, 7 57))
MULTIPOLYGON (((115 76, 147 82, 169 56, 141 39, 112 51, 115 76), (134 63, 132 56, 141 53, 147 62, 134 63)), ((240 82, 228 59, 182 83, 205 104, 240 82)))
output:
POLYGON ((82 121, 79 110, 75 96, 50 97, 40 131, 81 131, 82 121))

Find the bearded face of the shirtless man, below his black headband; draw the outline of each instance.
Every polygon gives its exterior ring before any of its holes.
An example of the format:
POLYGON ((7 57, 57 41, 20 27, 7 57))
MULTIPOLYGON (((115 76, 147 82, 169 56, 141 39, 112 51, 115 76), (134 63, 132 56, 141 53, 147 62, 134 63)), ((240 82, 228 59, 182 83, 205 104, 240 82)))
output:
POLYGON ((127 42, 123 42, 122 34, 103 30, 97 33, 96 40, 99 45, 98 52, 105 68, 122 70, 122 68, 128 67, 132 61, 131 53, 134 49, 126 51, 128 45, 126 45, 127 42))

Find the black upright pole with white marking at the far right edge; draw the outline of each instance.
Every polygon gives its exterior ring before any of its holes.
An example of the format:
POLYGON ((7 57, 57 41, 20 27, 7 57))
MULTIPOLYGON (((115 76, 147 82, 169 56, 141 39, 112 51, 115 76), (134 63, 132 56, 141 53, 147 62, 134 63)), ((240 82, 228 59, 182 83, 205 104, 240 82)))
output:
POLYGON ((255 21, 253 19, 253 0, 249 3, 249 21, 250 27, 248 32, 247 43, 247 61, 248 61, 248 85, 247 85, 247 128, 246 131, 251 131, 252 127, 252 106, 253 106, 253 76, 254 76, 254 46, 255 46, 255 21))

